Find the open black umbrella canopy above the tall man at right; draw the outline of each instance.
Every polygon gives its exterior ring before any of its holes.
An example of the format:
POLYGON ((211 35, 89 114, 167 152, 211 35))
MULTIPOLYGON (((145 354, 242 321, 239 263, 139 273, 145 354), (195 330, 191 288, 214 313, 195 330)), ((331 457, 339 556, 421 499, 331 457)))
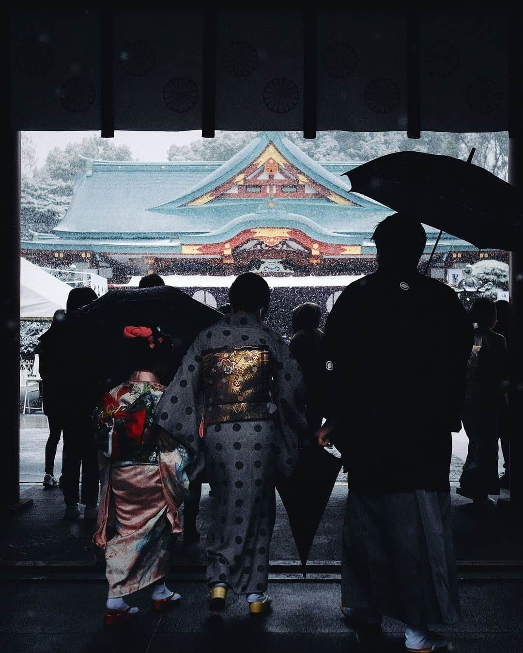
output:
POLYGON ((523 197, 485 168, 408 151, 372 159, 344 174, 352 191, 480 249, 519 251, 523 246, 523 197))

